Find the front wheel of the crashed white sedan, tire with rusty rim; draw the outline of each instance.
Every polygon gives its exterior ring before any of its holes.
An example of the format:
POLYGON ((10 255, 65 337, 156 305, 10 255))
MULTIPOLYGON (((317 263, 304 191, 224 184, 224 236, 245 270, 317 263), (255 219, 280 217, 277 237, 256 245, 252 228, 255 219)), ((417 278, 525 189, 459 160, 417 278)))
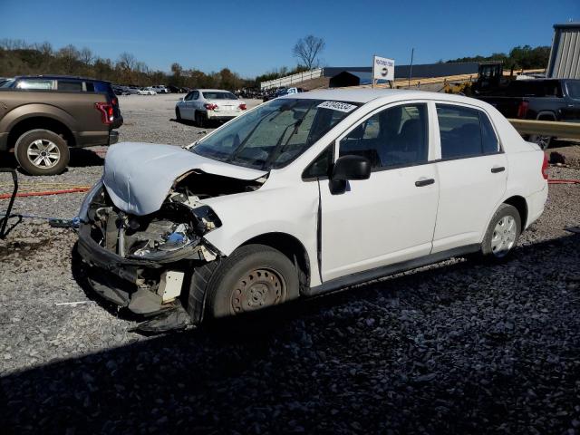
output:
MULTIPOLYGON (((249 313, 299 296, 295 266, 272 247, 239 247, 211 269, 208 264, 194 273, 189 295, 189 304, 197 307, 203 300, 201 292, 206 295, 205 314, 211 318, 249 313), (205 291, 195 288, 196 283, 200 287, 204 282, 205 291)), ((196 310, 199 308, 189 306, 190 315, 196 310)))

